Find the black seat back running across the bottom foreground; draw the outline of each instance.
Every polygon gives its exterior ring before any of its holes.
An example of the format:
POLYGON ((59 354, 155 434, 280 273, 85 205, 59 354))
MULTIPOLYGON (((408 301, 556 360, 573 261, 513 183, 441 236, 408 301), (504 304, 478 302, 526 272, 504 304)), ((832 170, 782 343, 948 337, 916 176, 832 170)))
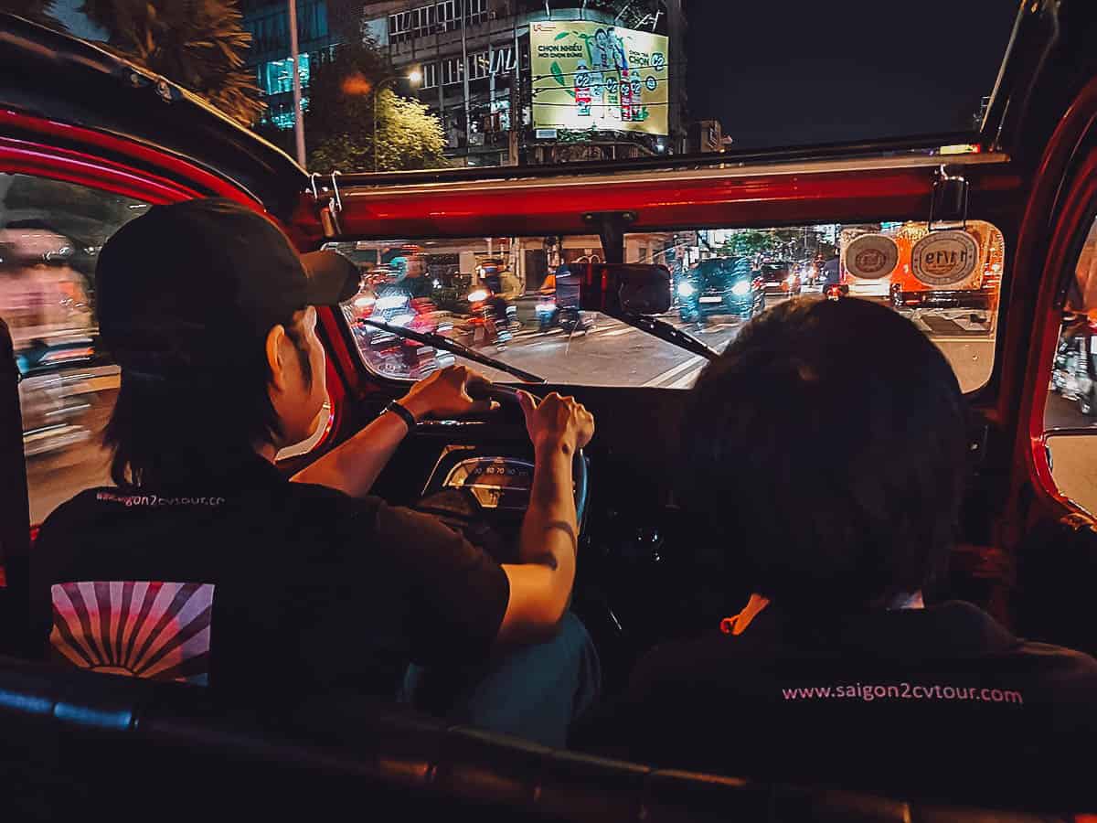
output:
POLYGON ((94 809, 157 821, 325 820, 355 809, 485 823, 1070 819, 660 770, 360 699, 276 713, 215 700, 192 686, 0 658, 0 818, 94 809))

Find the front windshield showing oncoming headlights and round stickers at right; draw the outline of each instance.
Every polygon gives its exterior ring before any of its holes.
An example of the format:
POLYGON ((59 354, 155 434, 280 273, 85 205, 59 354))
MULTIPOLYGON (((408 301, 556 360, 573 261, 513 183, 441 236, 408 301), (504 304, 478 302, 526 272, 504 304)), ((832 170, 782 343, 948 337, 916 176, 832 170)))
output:
MULTIPOLYGON (((553 273, 561 264, 603 260, 597 237, 392 238, 327 247, 351 257, 363 273, 362 291, 343 314, 363 362, 377 374, 418 380, 462 359, 402 340, 371 326, 371 318, 437 331, 552 383, 689 388, 705 364, 611 317, 558 309, 553 273)), ((925 223, 892 222, 636 233, 625 236, 624 252, 627 263, 670 270, 674 302, 661 319, 716 351, 766 308, 822 297, 832 283, 909 317, 949 358, 964 392, 983 386, 993 369, 1005 246, 988 223, 935 232, 925 223)))

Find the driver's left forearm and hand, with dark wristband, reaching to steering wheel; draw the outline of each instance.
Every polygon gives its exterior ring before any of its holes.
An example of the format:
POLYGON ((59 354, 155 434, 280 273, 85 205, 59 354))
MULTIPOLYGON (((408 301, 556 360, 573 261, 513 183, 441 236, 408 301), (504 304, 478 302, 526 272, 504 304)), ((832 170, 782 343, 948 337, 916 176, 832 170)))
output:
MULTIPOLYGON (((400 405, 416 420, 428 415, 457 417, 486 412, 490 402, 474 401, 466 391, 470 382, 483 380, 463 365, 451 365, 411 386, 400 405)), ((347 442, 302 469, 292 480, 338 488, 351 497, 365 497, 407 433, 403 418, 392 413, 383 414, 347 442)))

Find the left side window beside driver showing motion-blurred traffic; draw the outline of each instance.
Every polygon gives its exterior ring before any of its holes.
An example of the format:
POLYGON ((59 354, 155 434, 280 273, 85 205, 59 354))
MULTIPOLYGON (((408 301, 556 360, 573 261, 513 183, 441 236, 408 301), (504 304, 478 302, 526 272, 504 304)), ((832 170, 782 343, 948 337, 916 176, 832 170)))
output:
MULTIPOLYGON (((95 261, 106 239, 148 207, 76 183, 0 173, 0 317, 22 376, 31 522, 110 484, 102 435, 120 374, 99 338, 95 261)), ((307 451, 325 429, 279 456, 307 451)))

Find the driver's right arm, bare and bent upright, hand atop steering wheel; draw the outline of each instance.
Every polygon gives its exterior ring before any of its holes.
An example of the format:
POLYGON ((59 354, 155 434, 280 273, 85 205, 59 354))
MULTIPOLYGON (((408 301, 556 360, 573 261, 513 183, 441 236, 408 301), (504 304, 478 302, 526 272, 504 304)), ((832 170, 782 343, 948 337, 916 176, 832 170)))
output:
POLYGON ((519 394, 536 465, 522 521, 518 564, 505 564, 510 598, 496 642, 534 643, 552 636, 575 582, 578 522, 572 463, 595 432, 595 418, 572 397, 553 393, 540 404, 519 394))

